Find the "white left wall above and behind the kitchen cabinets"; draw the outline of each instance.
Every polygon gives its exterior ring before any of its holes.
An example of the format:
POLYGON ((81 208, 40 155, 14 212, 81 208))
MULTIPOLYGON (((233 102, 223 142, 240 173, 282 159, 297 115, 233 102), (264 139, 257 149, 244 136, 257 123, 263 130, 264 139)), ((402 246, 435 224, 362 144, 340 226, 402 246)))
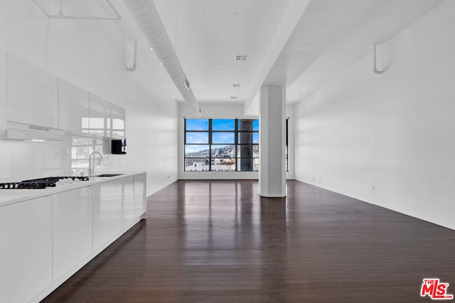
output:
MULTIPOLYGON (((164 87, 171 80, 135 31, 122 1, 112 3, 122 21, 50 20, 33 1, 4 0, 0 48, 124 107, 128 153, 109 155, 109 170, 146 170, 151 194, 177 179, 177 104, 166 97, 171 94, 164 87), (133 39, 139 41, 138 67, 127 72, 133 39)), ((41 177, 62 165, 54 156, 65 148, 0 141, 0 180, 41 177)))

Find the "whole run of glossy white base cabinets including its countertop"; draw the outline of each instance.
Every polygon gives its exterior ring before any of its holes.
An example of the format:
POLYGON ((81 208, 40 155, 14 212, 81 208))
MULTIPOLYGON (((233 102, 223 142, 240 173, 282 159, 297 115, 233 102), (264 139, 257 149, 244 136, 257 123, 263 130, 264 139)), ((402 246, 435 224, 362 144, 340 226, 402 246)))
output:
POLYGON ((0 302, 39 302, 141 219, 146 173, 0 190, 0 302))

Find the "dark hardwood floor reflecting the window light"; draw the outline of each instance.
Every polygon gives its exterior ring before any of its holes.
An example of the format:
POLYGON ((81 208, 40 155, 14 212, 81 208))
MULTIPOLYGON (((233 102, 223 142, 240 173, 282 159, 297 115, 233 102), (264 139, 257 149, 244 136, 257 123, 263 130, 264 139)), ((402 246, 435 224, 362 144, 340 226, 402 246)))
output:
MULTIPOLYGON (((455 231, 301 182, 178 181, 43 302, 433 302, 455 294, 455 231)), ((450 301, 449 301, 450 302, 450 301)))

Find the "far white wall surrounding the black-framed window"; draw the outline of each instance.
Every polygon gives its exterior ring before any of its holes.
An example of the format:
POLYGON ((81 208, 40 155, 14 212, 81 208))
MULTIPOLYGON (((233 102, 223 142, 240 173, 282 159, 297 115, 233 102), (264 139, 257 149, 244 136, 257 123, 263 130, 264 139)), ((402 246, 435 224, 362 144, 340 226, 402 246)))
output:
MULTIPOLYGON (((201 119, 258 119, 258 116, 245 116, 244 106, 239 103, 232 104, 199 104, 203 116, 201 119)), ((294 106, 287 106, 287 116, 289 119, 289 172, 287 172, 287 179, 294 179, 294 106)), ((183 157, 184 150, 184 119, 196 118, 187 104, 178 105, 178 179, 181 180, 203 180, 203 179, 220 179, 220 180, 233 180, 233 179, 258 179, 258 172, 184 172, 183 171, 183 157)))

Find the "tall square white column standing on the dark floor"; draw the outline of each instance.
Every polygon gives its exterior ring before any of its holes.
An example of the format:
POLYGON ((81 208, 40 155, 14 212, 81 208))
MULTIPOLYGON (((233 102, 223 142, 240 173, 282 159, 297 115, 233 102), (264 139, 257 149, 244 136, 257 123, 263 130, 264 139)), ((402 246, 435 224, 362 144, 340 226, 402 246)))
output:
POLYGON ((261 87, 259 94, 259 194, 286 197, 286 92, 261 87))

